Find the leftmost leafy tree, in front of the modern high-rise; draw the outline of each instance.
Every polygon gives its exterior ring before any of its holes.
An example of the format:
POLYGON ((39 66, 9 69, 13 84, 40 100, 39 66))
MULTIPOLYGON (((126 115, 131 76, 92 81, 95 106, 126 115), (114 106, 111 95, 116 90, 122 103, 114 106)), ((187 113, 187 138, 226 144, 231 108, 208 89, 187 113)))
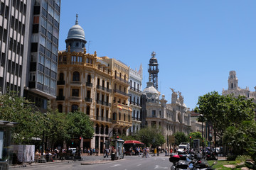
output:
POLYGON ((16 144, 30 144, 33 137, 41 137, 45 118, 33 103, 21 98, 16 91, 0 96, 0 120, 16 122, 13 140, 16 144))

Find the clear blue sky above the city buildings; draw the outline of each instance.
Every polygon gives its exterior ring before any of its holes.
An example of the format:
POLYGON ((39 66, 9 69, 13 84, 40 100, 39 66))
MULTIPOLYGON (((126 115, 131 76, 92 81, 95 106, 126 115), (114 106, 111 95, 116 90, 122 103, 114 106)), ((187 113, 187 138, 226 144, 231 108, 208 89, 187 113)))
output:
POLYGON ((159 91, 171 90, 195 108, 198 96, 228 89, 235 70, 238 86, 256 86, 256 1, 246 0, 62 0, 59 50, 68 30, 85 30, 87 52, 143 66, 142 90, 149 81, 151 52, 159 62, 159 91), (89 43, 90 42, 90 43, 89 43))

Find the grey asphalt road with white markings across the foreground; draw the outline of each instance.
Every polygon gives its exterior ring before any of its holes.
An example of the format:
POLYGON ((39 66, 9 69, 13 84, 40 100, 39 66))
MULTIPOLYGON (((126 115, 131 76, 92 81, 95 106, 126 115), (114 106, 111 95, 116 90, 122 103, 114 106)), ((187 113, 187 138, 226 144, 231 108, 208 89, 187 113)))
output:
POLYGON ((55 170, 71 170, 71 169, 86 169, 86 170, 150 170, 150 169, 170 169, 171 162, 169 157, 160 155, 159 157, 142 158, 138 156, 125 156, 124 159, 118 161, 110 161, 105 164, 81 164, 77 162, 60 162, 55 164, 38 164, 34 166, 26 166, 23 168, 14 169, 55 169, 55 170))

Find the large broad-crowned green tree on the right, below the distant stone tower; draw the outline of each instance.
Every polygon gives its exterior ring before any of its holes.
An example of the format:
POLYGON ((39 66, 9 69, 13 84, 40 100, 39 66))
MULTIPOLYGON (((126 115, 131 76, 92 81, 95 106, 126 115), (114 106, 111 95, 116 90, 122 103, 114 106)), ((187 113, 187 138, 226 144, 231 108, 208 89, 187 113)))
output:
POLYGON ((252 120, 255 116, 255 103, 252 99, 246 100, 245 96, 221 96, 212 91, 199 96, 197 104, 195 111, 212 123, 213 130, 220 139, 230 125, 237 126, 242 120, 252 120))

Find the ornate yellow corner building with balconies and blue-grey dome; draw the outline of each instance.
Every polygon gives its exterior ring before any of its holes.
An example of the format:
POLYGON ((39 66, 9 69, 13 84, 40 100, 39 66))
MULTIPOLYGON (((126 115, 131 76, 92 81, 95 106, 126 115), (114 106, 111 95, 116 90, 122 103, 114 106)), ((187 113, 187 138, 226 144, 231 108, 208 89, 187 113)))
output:
POLYGON ((53 107, 59 112, 82 111, 94 123, 92 139, 82 138, 81 147, 103 152, 114 133, 127 135, 132 126, 128 106, 129 67, 109 57, 97 57, 85 50, 85 32, 78 25, 68 32, 66 50, 58 53, 57 98, 53 107))

